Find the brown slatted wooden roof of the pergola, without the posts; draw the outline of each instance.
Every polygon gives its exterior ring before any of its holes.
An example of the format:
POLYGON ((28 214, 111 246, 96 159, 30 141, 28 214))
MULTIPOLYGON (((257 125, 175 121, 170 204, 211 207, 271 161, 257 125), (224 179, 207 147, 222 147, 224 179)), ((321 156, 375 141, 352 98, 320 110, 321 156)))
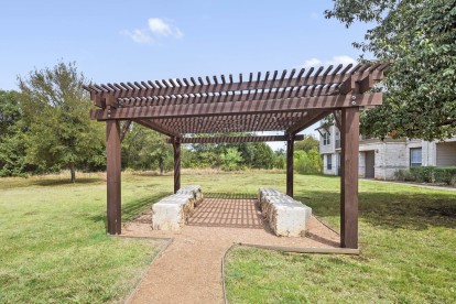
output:
POLYGON ((85 88, 101 108, 91 118, 133 120, 170 137, 271 130, 295 134, 334 110, 380 105, 381 93, 369 89, 388 65, 339 64, 85 88))

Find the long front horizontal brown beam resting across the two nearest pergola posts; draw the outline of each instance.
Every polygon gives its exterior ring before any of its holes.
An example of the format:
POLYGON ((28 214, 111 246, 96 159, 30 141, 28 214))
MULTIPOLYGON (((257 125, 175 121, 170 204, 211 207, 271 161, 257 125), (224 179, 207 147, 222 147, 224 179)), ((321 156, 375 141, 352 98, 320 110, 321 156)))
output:
POLYGON ((98 120, 142 119, 142 118, 182 118, 208 117, 246 113, 294 112, 311 109, 339 109, 354 106, 381 105, 382 94, 295 97, 283 100, 253 100, 249 102, 214 102, 195 105, 167 105, 154 107, 134 107, 96 110, 98 120))

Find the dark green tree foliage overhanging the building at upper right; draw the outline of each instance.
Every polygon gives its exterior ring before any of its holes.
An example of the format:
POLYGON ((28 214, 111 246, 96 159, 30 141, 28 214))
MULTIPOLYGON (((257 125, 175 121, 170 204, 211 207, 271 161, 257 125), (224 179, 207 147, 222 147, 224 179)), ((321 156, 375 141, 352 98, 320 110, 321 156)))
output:
POLYGON ((376 22, 366 42, 354 43, 391 61, 383 106, 366 111, 371 135, 445 139, 456 133, 456 0, 335 0, 326 18, 348 28, 376 22))

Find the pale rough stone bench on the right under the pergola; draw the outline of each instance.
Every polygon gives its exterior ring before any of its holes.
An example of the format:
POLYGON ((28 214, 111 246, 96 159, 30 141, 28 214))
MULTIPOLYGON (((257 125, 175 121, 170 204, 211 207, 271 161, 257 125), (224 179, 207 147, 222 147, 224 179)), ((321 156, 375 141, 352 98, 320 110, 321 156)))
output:
POLYGON ((274 188, 260 188, 258 196, 261 213, 276 236, 304 236, 312 216, 310 207, 274 188))

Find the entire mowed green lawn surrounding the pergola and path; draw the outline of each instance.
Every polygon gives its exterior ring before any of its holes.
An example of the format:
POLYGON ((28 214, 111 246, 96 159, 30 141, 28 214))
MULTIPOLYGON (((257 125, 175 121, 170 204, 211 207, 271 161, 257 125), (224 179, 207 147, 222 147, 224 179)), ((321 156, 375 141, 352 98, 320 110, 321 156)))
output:
MULTIPOLYGON (((106 236, 104 174, 0 180, 0 303, 122 301, 163 243, 106 236)), ((285 191, 284 172, 184 171, 204 193, 285 191)), ((173 176, 122 174, 123 220, 171 194, 173 176)), ((339 180, 295 175, 295 196, 335 228, 339 180)), ((360 182, 361 256, 237 248, 230 303, 455 302, 456 192, 360 182)))

